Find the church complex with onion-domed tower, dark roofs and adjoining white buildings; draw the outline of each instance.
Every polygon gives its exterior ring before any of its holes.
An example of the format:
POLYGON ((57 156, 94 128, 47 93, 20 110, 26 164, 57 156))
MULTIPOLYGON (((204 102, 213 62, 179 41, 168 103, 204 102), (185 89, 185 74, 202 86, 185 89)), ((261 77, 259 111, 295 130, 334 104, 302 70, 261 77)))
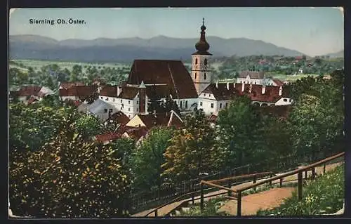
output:
POLYGON ((283 84, 279 81, 268 84, 261 72, 243 72, 233 83, 211 83, 212 54, 208 51, 204 19, 200 29, 200 39, 192 53, 191 72, 180 60, 134 60, 128 80, 119 86, 102 86, 98 89, 99 99, 114 105, 130 119, 137 114, 148 114, 151 98, 169 97, 181 112, 197 107, 206 115, 218 114, 234 95, 249 95, 260 106, 291 104, 283 84))

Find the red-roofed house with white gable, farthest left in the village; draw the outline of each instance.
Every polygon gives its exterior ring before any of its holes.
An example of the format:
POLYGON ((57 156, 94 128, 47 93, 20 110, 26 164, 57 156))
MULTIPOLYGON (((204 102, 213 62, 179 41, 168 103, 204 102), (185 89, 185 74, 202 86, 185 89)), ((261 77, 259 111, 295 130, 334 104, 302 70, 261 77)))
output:
POLYGON ((46 95, 53 95, 53 91, 50 88, 44 86, 22 86, 20 90, 17 91, 18 100, 22 103, 28 103, 28 100, 32 98, 30 103, 33 103, 35 100, 42 100, 46 95))

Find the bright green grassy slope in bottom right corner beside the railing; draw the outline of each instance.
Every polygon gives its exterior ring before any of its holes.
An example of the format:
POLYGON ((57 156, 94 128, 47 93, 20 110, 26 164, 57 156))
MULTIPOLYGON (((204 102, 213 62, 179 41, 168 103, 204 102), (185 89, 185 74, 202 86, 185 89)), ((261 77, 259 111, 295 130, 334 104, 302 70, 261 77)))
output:
POLYGON ((345 165, 336 167, 315 180, 307 180, 303 186, 303 199, 297 192, 284 203, 271 210, 258 211, 259 216, 313 216, 335 213, 343 208, 345 188, 345 165))

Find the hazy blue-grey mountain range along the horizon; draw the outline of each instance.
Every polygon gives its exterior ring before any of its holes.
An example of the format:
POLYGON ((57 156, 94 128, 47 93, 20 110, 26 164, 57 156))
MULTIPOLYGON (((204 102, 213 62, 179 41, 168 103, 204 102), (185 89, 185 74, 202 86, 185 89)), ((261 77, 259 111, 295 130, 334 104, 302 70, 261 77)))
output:
MULTIPOLYGON (((151 39, 123 38, 57 41, 37 35, 9 38, 11 59, 65 60, 79 62, 131 62, 134 59, 190 60, 199 40, 158 36, 151 39)), ((206 37, 213 57, 248 55, 303 55, 298 51, 245 38, 206 37)))

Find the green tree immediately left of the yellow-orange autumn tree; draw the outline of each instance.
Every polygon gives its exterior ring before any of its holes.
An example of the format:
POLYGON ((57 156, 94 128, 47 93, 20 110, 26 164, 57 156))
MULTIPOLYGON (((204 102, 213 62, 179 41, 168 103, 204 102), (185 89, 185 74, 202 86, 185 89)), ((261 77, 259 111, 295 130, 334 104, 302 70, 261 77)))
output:
POLYGON ((161 187, 161 164, 164 164, 164 152, 172 138, 173 129, 155 127, 147 134, 141 145, 131 155, 131 168, 134 186, 140 190, 161 187))

